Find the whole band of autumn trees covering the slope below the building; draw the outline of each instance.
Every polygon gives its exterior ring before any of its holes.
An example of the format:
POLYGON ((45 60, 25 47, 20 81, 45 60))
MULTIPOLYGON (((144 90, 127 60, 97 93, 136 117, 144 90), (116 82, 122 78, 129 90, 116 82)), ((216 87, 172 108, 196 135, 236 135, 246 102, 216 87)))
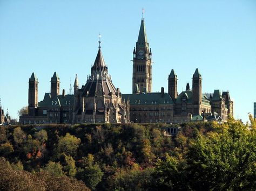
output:
POLYGON ((29 177, 35 182, 31 190, 38 179, 44 182, 40 190, 58 190, 56 182, 62 182, 61 190, 256 189, 252 118, 250 125, 234 119, 181 124, 176 137, 164 136, 163 126, 1 126, 0 189, 9 176, 29 177))

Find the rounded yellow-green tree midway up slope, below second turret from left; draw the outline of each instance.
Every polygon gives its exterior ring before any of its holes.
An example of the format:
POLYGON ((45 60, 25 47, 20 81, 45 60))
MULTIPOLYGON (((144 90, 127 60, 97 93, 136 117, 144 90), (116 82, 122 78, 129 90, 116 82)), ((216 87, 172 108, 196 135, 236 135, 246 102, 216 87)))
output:
POLYGON ((77 149, 81 140, 76 136, 72 136, 66 133, 65 137, 60 137, 57 145, 58 154, 65 153, 66 155, 71 155, 75 157, 77 155, 77 149))

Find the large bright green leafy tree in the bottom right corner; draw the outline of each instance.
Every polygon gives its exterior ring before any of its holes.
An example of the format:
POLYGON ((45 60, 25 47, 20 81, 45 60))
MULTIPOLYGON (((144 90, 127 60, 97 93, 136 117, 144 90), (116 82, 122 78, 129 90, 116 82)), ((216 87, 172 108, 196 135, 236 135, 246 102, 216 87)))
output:
POLYGON ((255 190, 255 131, 240 121, 215 124, 215 132, 199 135, 186 155, 192 189, 255 190))

